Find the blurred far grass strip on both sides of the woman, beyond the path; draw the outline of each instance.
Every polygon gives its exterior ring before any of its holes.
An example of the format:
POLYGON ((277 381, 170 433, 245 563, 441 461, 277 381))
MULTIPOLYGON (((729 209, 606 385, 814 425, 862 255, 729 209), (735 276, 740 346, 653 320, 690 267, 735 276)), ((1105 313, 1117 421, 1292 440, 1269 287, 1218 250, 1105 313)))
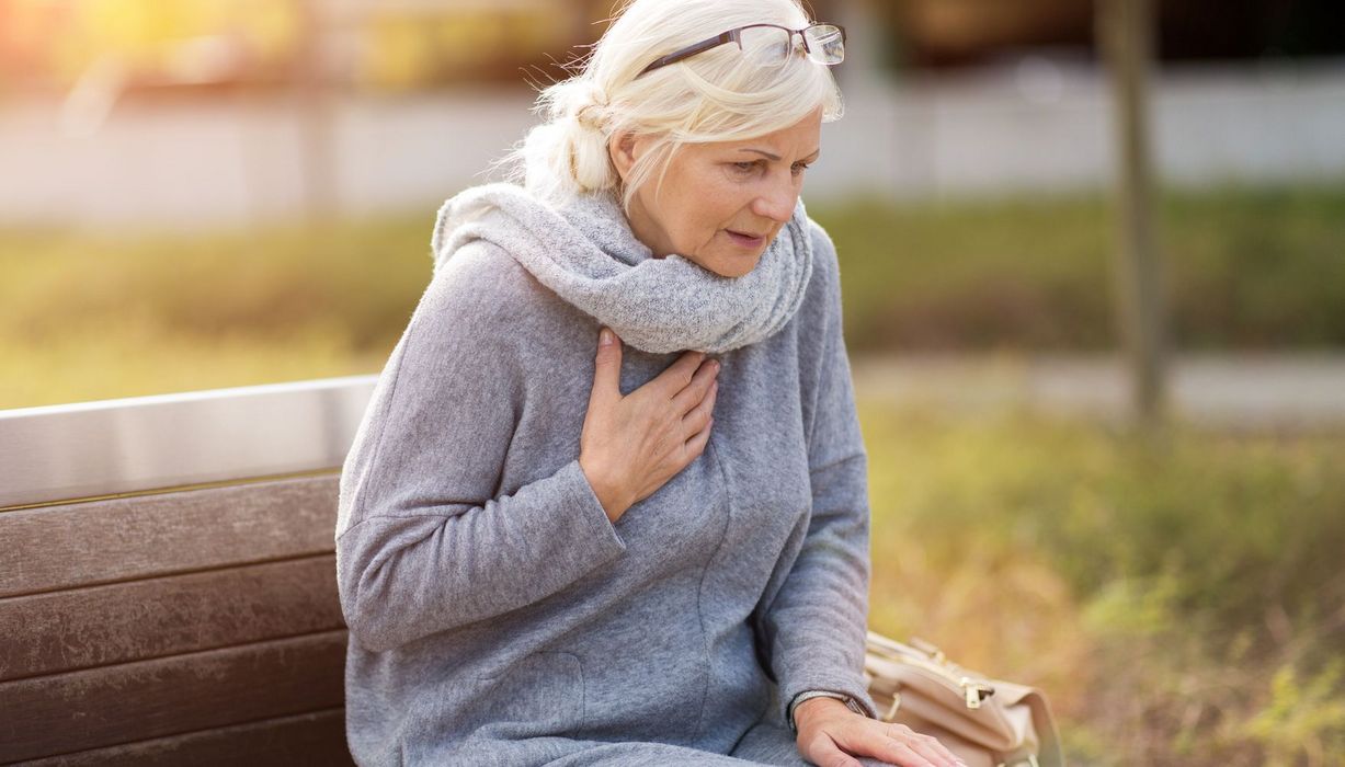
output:
MULTIPOLYGON (((1345 182, 1165 198, 1182 349, 1345 346, 1345 182)), ((196 235, 0 231, 0 408, 371 373, 434 206, 196 235)), ((1115 344, 1096 196, 814 206, 855 353, 1115 344)))

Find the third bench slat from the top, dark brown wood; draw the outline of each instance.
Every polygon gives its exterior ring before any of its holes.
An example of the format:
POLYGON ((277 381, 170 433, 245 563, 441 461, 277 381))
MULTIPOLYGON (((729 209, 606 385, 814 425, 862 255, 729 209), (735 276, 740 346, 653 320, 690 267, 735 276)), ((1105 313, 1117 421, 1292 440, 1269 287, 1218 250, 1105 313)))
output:
POLYGON ((338 708, 346 635, 0 682, 0 763, 338 708))

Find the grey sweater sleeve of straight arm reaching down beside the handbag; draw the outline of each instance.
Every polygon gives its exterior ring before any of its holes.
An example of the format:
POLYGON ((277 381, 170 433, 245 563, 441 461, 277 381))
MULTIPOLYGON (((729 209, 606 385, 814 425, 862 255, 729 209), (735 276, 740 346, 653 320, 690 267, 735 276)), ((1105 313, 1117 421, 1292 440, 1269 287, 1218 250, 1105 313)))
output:
POLYGON ((824 258, 826 309, 819 323, 815 402, 808 439, 812 510, 799 554, 764 615, 780 716, 807 690, 850 696, 876 716, 863 681, 869 593, 868 456, 855 412, 841 327, 835 250, 816 229, 824 258))

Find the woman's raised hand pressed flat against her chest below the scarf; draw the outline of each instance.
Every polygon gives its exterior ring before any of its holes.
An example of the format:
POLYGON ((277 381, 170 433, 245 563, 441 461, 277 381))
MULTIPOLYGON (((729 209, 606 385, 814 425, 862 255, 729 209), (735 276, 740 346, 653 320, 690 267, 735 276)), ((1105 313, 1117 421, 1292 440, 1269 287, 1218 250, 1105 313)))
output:
POLYGON ((621 396, 621 339, 600 335, 580 468, 616 522, 705 451, 720 363, 687 351, 652 381, 621 396), (604 344, 603 340, 611 343, 604 344))

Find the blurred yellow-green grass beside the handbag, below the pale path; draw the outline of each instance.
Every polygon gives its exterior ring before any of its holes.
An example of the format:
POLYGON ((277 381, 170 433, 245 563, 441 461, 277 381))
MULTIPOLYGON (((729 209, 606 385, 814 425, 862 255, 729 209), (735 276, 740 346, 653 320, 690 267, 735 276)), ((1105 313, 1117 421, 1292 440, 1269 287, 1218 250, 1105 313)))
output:
POLYGON ((1041 685, 1076 763, 1345 754, 1345 439, 861 418, 876 630, 1041 685))

